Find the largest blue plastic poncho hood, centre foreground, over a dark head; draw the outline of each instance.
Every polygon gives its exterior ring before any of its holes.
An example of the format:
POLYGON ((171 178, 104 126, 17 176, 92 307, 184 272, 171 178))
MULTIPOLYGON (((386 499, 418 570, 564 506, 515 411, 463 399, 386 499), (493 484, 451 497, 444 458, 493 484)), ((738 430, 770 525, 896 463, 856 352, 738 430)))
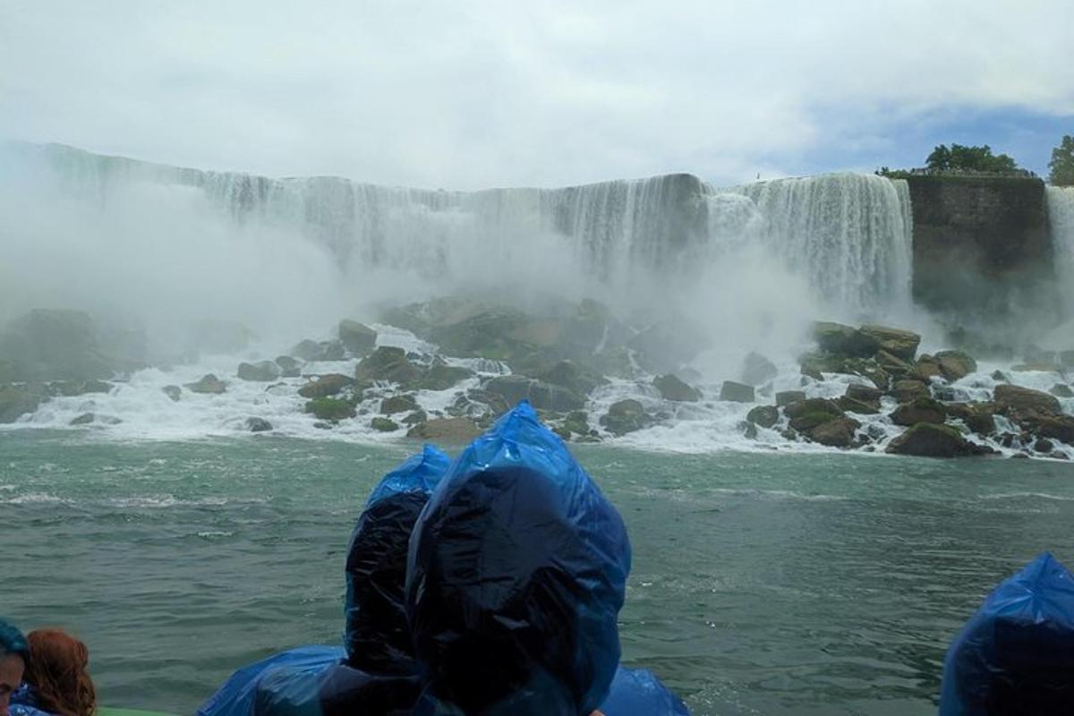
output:
POLYGON ((415 714, 589 714, 619 664, 629 569, 619 512, 522 401, 451 465, 415 525, 415 714))

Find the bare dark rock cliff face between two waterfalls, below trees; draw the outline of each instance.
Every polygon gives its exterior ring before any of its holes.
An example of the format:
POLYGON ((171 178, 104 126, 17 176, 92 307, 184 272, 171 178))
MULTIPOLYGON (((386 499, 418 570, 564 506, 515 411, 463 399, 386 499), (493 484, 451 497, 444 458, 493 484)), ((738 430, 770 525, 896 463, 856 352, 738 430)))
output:
POLYGON ((912 176, 914 298, 959 318, 1056 308, 1044 182, 912 176))

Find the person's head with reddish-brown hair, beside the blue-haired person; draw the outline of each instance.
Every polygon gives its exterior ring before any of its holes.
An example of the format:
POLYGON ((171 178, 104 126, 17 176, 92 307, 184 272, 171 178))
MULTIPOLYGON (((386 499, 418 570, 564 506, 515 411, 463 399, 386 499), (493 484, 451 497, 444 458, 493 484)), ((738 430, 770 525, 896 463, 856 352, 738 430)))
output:
POLYGON ((90 716, 97 710, 97 692, 86 673, 86 645, 59 629, 37 629, 27 641, 30 657, 24 678, 37 691, 38 706, 57 716, 90 716))

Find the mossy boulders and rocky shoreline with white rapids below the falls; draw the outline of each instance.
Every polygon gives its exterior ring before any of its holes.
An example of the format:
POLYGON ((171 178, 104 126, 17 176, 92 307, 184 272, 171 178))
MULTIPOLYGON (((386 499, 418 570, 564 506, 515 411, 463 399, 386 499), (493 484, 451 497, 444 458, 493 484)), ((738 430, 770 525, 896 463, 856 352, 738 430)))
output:
MULTIPOLYGON (((620 438, 667 425, 691 406, 728 403, 750 406, 737 429, 761 442, 778 434, 794 443, 929 457, 1074 454, 1074 351, 1029 350, 1020 364, 978 380, 973 356, 919 353, 916 333, 818 322, 811 350, 798 359, 797 385, 787 390, 787 377, 758 353, 745 356, 735 380, 703 383, 688 364, 705 342, 688 322, 628 325, 594 301, 535 316, 445 298, 392 308, 381 322, 410 332, 423 349, 380 345, 376 328, 343 320, 329 340, 302 340, 274 359, 240 362, 232 374, 160 390, 185 401, 263 383, 275 393, 293 390, 318 428, 357 421, 376 433, 447 442, 471 439, 526 398, 570 441, 620 438), (1055 383, 1048 392, 1018 385, 1024 371, 1054 374, 1055 383), (612 383, 637 396, 594 398, 612 383), (833 386, 843 392, 833 395, 833 386)), ((37 310, 13 326, 0 336, 0 423, 57 397, 106 394, 121 384, 117 375, 145 367, 78 311, 37 310)), ((70 424, 117 420, 86 411, 70 424)), ((274 426, 250 414, 244 428, 274 426)))

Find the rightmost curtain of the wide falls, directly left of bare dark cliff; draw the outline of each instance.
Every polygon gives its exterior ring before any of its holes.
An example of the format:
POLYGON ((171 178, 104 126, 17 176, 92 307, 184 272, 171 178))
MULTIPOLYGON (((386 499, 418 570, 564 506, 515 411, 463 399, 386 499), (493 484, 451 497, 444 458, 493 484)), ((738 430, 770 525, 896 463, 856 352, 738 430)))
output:
POLYGON ((858 316, 910 306, 913 224, 905 181, 826 174, 735 191, 764 217, 760 239, 788 267, 806 272, 829 304, 858 316))

